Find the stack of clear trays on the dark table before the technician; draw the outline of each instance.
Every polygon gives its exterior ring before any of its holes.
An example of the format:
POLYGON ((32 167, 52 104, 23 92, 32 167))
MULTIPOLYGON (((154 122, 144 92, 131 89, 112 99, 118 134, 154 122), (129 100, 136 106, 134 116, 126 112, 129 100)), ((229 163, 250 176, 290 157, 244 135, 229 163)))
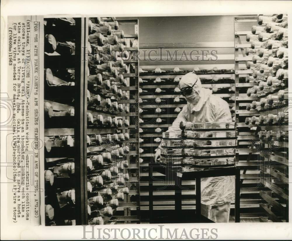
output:
POLYGON ((163 133, 160 162, 201 168, 235 164, 235 122, 181 122, 180 129, 163 133))

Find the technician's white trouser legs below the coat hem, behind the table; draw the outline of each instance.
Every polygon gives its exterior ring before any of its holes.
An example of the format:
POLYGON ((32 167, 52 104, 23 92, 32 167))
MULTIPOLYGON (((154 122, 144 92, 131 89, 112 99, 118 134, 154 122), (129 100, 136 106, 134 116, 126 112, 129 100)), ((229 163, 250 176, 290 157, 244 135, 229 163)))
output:
POLYGON ((218 206, 201 204, 201 214, 215 223, 228 223, 230 215, 230 202, 218 206))

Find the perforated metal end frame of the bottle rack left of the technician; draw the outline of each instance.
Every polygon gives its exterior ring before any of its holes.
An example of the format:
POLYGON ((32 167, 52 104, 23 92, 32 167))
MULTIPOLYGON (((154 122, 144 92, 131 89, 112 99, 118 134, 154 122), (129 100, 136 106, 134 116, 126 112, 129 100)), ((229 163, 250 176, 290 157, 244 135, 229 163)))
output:
MULTIPOLYGON (((107 21, 105 18, 103 20, 107 21)), ((124 110, 128 108, 129 112, 123 111, 117 114, 116 117, 128 121, 128 126, 121 126, 116 129, 88 129, 88 134, 96 133, 114 133, 119 131, 122 134, 128 134, 129 140, 121 142, 123 148, 128 148, 128 154, 125 156, 128 165, 122 169, 124 175, 129 176, 129 180, 123 185, 123 188, 129 188, 129 192, 124 194, 124 202, 120 202, 119 206, 113 211, 113 215, 108 217, 105 223, 119 224, 119 223, 140 223, 140 198, 139 198, 139 124, 137 122, 137 109, 139 108, 138 100, 138 65, 139 61, 135 58, 138 51, 138 20, 124 20, 117 19, 119 23, 119 31, 124 29, 124 41, 126 46, 124 51, 128 51, 129 58, 124 60, 124 64, 128 66, 128 72, 123 74, 126 80, 127 86, 120 86, 119 88, 126 93, 127 99, 118 99, 117 103, 122 104, 124 110), (128 29, 131 28, 133 33, 128 33, 128 29), (135 44, 135 46, 134 46, 135 44), (134 197, 134 198, 133 198, 134 197), (133 199, 132 199, 133 198, 133 199)), ((91 44, 92 48, 96 47, 95 44, 91 44)), ((115 141, 114 141, 115 142, 115 141)), ((118 144, 118 143, 116 143, 118 144)))

